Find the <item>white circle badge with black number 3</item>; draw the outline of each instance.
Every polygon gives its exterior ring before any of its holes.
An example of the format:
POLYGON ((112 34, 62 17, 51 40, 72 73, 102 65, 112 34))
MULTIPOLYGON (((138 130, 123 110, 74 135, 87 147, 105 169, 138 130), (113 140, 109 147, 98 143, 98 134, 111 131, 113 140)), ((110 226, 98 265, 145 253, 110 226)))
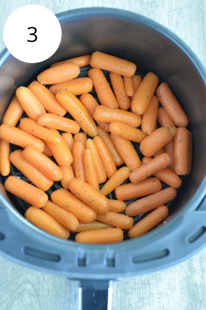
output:
POLYGON ((62 29, 57 17, 40 5, 25 5, 9 15, 3 30, 4 43, 15 58, 37 63, 58 49, 62 29))

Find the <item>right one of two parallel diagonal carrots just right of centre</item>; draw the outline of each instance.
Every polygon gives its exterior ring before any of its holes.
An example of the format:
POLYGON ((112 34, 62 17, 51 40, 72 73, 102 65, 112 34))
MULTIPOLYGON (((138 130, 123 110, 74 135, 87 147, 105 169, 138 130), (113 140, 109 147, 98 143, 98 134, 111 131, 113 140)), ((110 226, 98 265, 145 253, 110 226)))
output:
POLYGON ((121 155, 123 161, 131 171, 135 170, 141 165, 139 156, 129 140, 124 139, 118 135, 114 135, 112 133, 110 134, 110 137, 114 145, 116 146, 119 154, 121 155))

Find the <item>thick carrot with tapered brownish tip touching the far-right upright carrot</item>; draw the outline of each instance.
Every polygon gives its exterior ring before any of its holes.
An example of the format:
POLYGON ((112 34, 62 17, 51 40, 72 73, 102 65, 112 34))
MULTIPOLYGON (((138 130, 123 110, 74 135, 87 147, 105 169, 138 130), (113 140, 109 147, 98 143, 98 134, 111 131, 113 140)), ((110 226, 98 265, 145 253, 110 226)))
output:
POLYGON ((153 131, 140 143, 139 149, 141 153, 146 157, 153 156, 172 140, 175 132, 175 127, 161 127, 153 131))

